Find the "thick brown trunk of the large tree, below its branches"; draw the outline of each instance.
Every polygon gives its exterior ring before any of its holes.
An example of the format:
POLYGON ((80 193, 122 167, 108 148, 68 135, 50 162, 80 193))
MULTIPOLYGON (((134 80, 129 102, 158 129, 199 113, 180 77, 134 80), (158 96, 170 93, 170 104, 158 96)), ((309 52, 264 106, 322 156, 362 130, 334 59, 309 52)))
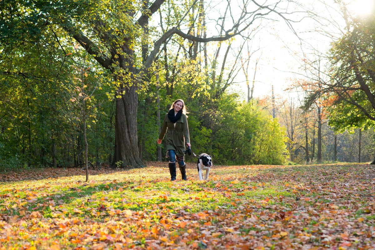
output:
MULTIPOLYGON (((120 88, 121 90, 122 88, 120 88)), ((124 89, 121 98, 116 99, 115 152, 112 167, 142 167, 139 158, 137 136, 138 94, 136 84, 124 89)))

